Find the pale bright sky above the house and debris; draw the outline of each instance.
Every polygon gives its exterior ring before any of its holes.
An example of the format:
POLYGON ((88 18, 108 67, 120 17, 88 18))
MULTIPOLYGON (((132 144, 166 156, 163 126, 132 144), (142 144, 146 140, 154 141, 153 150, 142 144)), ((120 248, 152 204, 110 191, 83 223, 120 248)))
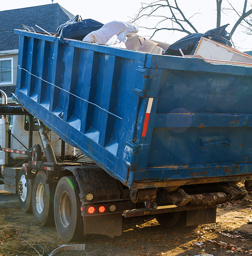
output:
MULTIPOLYGON (((130 17, 134 15, 141 8, 141 2, 150 2, 149 0, 54 0, 54 3, 60 4, 62 7, 67 9, 73 15, 79 14, 83 19, 95 19, 101 23, 107 23, 112 20, 119 21, 129 21, 130 17)), ((216 27, 216 1, 215 0, 178 0, 181 3, 181 8, 187 15, 187 17, 192 16, 195 12, 199 14, 192 17, 190 20, 199 32, 203 33, 209 29, 216 27), (202 4, 204 3, 204 4, 202 4)), ((223 1, 225 4, 226 1, 223 1)), ((236 2, 236 7, 238 10, 242 11, 243 0, 233 1, 236 2)), ((248 3, 250 0, 248 0, 248 3)), ((35 5, 51 4, 51 0, 11 0, 11 1, 1 1, 0 11, 24 8, 35 5)), ((249 7, 249 5, 248 5, 249 7)), ((227 27, 227 31, 230 32, 232 25, 238 16, 233 16, 230 13, 222 15, 221 25, 230 23, 227 27)), ((139 24, 151 27, 153 26, 153 21, 148 19, 142 20, 139 24)), ((140 29, 138 35, 151 35, 149 31, 140 29)), ((174 43, 178 39, 184 37, 187 34, 171 31, 160 32, 155 35, 156 40, 160 40, 167 43, 174 43)), ((252 35, 245 35, 241 32, 241 29, 237 29, 233 35, 233 41, 235 45, 241 50, 252 50, 252 35)))

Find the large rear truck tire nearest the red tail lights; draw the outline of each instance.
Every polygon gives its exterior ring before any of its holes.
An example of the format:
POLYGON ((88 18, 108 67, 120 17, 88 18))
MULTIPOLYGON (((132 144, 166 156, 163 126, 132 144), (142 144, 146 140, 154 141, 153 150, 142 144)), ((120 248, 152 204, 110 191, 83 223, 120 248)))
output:
POLYGON ((80 212, 78 185, 73 176, 64 176, 54 196, 54 219, 57 232, 67 242, 82 240, 83 221, 80 212))

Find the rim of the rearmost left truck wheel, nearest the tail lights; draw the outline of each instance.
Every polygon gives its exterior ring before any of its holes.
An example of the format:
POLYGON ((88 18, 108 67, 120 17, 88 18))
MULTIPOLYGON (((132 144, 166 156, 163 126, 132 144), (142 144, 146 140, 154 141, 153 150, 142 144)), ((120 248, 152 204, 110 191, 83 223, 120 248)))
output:
POLYGON ((61 223, 65 228, 67 228, 71 220, 71 202, 70 202, 69 194, 66 191, 64 191, 61 194, 59 212, 60 212, 61 223))

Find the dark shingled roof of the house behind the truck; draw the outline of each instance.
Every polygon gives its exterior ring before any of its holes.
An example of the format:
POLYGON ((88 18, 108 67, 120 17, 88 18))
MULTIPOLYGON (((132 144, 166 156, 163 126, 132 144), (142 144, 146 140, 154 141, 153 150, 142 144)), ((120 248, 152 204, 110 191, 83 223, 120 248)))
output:
POLYGON ((22 24, 30 27, 35 27, 37 24, 48 32, 56 33, 57 27, 73 17, 72 13, 57 3, 2 11, 0 12, 0 50, 19 48, 19 35, 12 32, 14 29, 23 29, 22 24))

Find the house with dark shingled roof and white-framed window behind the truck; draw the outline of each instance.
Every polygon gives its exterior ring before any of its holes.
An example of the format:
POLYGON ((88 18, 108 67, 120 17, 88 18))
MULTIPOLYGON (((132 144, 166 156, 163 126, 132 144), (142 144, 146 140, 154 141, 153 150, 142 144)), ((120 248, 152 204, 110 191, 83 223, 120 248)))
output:
POLYGON ((56 33, 57 27, 74 16, 59 4, 46 4, 0 12, 0 89, 11 102, 15 93, 19 35, 14 29, 24 29, 22 24, 35 27, 37 24, 46 31, 56 33))

